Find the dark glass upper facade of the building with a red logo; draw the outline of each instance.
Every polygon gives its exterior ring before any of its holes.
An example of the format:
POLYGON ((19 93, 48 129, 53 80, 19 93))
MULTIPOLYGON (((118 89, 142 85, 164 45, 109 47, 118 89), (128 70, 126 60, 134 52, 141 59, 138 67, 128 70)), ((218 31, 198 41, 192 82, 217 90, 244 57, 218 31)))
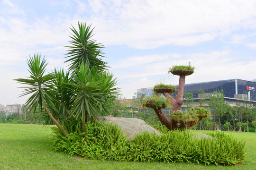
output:
POLYGON ((184 93, 191 92, 194 98, 199 98, 198 90, 212 93, 214 91, 219 92, 221 89, 223 89, 225 97, 238 98, 239 94, 247 94, 247 100, 256 101, 256 82, 241 79, 185 84, 184 93))

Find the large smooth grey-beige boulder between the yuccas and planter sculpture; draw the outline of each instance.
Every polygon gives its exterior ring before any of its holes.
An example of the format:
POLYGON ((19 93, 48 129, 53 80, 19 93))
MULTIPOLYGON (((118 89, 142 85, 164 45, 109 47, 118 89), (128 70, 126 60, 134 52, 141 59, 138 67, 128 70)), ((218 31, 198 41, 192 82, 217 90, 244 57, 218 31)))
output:
POLYGON ((110 117, 104 116, 98 119, 101 122, 106 122, 108 124, 117 124, 121 127, 123 134, 127 135, 128 140, 132 140, 137 134, 142 132, 151 132, 156 134, 161 134, 153 127, 146 124, 145 121, 137 118, 117 118, 117 117, 110 117))

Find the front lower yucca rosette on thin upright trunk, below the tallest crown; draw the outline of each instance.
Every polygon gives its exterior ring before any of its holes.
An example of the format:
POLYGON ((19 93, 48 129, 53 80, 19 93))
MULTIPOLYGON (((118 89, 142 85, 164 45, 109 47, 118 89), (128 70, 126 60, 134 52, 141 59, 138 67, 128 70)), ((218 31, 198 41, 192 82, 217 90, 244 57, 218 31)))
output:
POLYGON ((77 119, 82 117, 83 131, 86 122, 103 115, 106 107, 113 104, 117 93, 116 81, 113 75, 98 68, 90 68, 87 63, 80 62, 79 68, 73 74, 73 114, 77 119))

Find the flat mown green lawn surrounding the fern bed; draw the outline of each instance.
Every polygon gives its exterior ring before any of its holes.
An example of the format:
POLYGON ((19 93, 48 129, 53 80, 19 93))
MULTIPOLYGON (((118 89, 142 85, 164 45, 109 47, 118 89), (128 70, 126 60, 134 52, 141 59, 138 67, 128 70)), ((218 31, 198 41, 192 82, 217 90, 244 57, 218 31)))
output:
POLYGON ((256 170, 256 133, 225 133, 246 141, 246 157, 241 165, 80 160, 50 149, 49 127, 0 124, 0 170, 256 170))

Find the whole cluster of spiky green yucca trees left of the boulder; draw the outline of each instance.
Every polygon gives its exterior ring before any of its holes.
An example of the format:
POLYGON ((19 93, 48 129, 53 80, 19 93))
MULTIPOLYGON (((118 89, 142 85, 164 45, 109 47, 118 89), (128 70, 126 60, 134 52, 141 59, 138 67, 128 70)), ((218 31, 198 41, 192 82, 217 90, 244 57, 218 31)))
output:
POLYGON ((45 109, 46 123, 53 121, 64 135, 85 132, 85 123, 106 113, 118 92, 116 79, 101 60, 103 46, 92 40, 91 25, 81 22, 78 28, 71 27, 68 72, 55 69, 46 74, 46 59, 37 53, 27 61, 30 77, 15 79, 26 85, 21 96, 31 95, 27 108, 45 109))

